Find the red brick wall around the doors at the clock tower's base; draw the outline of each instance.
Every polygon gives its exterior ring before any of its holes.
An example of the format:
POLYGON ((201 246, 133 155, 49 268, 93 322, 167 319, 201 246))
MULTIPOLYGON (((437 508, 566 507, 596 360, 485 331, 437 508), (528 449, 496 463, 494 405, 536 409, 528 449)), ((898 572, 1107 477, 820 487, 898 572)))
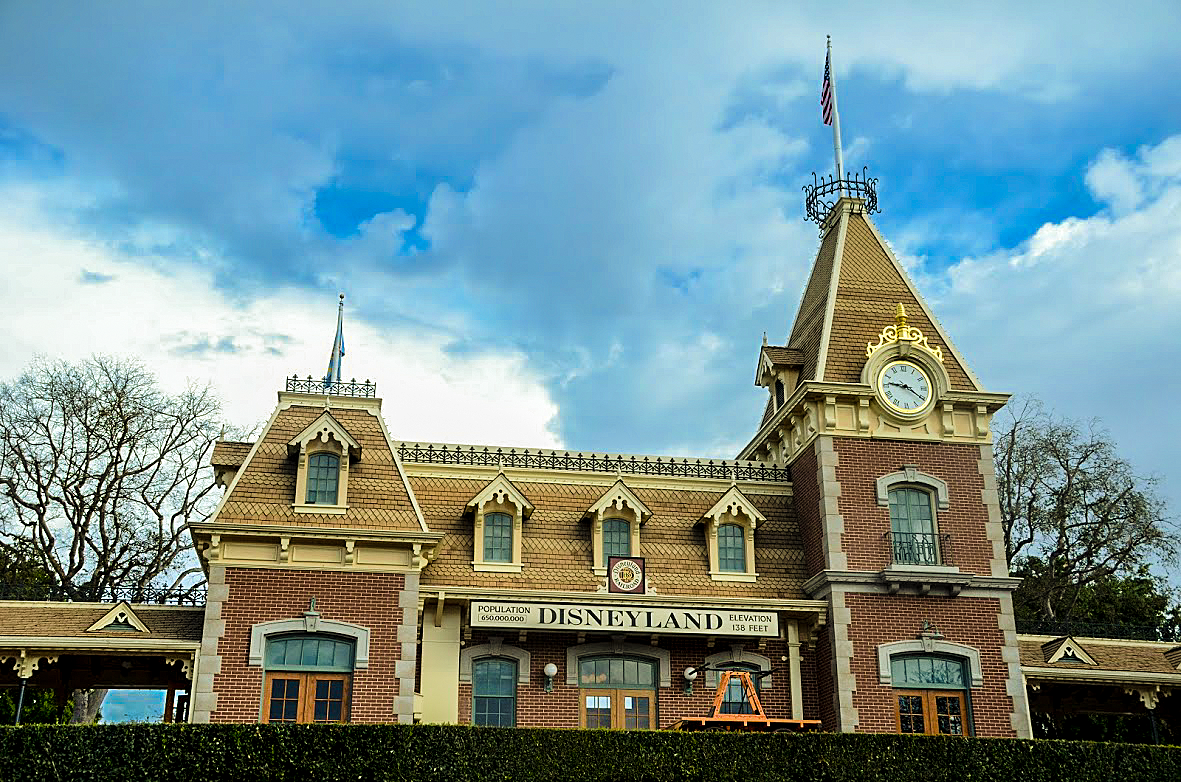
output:
POLYGON ((980 652, 984 684, 971 690, 972 718, 978 736, 1014 736, 1010 715, 1012 698, 1005 691, 1009 666, 1000 656, 1005 643, 997 617, 1000 601, 984 598, 918 595, 844 595, 852 613, 853 672, 857 690, 857 730, 895 732, 893 689, 877 683, 877 646, 914 640, 924 619, 929 619, 944 640, 972 646, 980 652))

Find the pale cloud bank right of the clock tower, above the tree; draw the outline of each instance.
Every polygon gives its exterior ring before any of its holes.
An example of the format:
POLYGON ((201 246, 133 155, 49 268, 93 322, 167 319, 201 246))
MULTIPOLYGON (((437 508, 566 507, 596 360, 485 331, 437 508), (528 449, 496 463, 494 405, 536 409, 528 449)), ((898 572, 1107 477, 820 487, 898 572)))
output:
POLYGON ((1100 417, 1122 450, 1163 475, 1181 509, 1181 136, 1087 175, 1108 209, 1046 223, 1018 247, 925 279, 986 385, 1100 417))

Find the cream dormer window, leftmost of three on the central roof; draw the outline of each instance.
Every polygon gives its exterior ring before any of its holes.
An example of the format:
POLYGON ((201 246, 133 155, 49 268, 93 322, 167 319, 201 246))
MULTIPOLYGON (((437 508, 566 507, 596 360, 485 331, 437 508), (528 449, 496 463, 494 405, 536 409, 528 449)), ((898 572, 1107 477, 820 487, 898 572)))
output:
POLYGON ((520 573, 521 533, 533 503, 503 474, 468 501, 472 515, 471 568, 484 573, 520 573))

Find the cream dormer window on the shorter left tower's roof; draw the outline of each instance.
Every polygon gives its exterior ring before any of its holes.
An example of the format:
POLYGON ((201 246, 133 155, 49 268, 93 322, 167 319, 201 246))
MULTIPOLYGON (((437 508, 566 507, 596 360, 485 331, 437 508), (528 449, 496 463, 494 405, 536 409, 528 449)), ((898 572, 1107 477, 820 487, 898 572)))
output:
POLYGON ((325 410, 287 443, 299 462, 295 473, 295 513, 344 515, 348 510, 348 469, 360 462, 361 447, 325 410))

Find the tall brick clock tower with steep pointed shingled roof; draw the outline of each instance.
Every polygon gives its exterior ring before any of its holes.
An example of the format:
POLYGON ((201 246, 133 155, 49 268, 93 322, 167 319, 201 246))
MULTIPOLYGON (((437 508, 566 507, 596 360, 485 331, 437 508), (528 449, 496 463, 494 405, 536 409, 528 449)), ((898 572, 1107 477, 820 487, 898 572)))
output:
POLYGON ((791 471, 826 728, 1029 736, 987 391, 870 215, 876 181, 805 188, 820 248, 738 458, 791 471))

